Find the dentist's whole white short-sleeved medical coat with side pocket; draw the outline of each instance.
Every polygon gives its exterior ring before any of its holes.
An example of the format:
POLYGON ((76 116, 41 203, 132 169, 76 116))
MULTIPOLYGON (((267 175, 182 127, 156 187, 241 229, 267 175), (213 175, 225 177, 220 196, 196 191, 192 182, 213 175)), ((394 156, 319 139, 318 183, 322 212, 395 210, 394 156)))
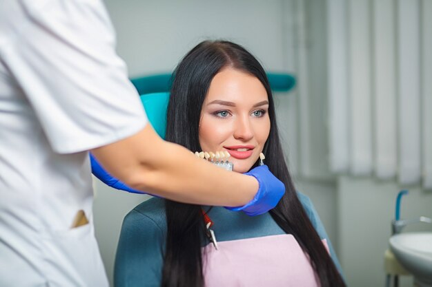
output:
POLYGON ((87 151, 146 123, 101 1, 1 1, 0 286, 108 286, 87 151))

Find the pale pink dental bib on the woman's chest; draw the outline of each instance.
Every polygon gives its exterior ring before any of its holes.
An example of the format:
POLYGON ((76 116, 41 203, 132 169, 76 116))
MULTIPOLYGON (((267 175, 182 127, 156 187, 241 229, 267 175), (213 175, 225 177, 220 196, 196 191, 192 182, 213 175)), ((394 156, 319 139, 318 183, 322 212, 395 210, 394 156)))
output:
POLYGON ((202 253, 206 287, 320 286, 293 235, 218 242, 217 250, 208 244, 202 253))

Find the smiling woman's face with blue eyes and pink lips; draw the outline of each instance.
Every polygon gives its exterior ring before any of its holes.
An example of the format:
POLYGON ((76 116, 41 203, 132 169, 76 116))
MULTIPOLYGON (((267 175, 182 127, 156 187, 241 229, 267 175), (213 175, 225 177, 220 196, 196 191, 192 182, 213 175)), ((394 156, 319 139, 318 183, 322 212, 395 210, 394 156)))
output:
POLYGON ((203 151, 228 151, 234 171, 244 173, 259 158, 270 133, 268 96, 251 74, 225 68, 210 83, 199 121, 203 151))

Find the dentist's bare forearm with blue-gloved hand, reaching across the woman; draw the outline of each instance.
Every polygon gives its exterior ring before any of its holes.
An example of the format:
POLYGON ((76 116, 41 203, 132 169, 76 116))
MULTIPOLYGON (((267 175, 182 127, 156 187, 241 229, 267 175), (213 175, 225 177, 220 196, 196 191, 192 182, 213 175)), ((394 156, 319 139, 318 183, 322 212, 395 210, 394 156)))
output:
POLYGON ((134 136, 92 150, 97 161, 128 187, 170 200, 217 206, 252 205, 253 214, 272 209, 284 184, 265 169, 244 176, 215 167, 188 149, 159 138, 151 125, 134 136), (259 183, 258 183, 259 182, 259 183), (271 187, 271 188, 269 188, 271 187))

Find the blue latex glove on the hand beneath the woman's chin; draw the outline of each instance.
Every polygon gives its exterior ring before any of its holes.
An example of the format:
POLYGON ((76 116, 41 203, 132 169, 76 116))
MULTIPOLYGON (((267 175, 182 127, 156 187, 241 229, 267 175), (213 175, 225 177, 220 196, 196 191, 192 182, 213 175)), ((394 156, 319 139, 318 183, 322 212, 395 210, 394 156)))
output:
POLYGON ((251 169, 247 176, 253 176, 258 180, 259 189, 253 200, 244 206, 226 207, 230 211, 243 211, 247 215, 255 216, 273 209, 285 193, 285 185, 278 180, 266 165, 251 169))

